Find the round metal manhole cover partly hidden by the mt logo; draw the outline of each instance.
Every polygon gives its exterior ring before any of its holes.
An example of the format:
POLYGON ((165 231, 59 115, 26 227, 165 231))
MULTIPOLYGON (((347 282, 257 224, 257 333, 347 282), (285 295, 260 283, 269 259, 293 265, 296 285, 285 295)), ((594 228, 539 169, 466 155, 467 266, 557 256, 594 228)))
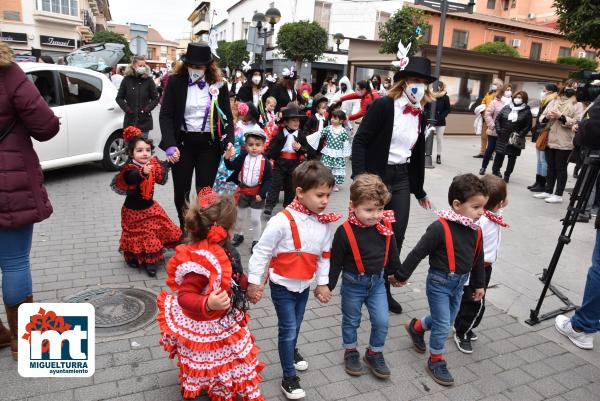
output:
POLYGON ((139 288, 94 288, 65 299, 87 302, 96 309, 96 335, 120 336, 139 330, 156 319, 156 294, 139 288))

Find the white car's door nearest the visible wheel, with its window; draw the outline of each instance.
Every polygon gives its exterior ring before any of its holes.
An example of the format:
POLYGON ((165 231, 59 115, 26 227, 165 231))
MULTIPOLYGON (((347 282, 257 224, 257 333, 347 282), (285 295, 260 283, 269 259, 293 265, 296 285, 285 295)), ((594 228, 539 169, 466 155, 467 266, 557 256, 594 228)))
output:
POLYGON ((91 160, 92 154, 102 152, 106 136, 107 110, 101 102, 103 80, 83 71, 59 71, 59 76, 67 108, 69 156, 91 160))

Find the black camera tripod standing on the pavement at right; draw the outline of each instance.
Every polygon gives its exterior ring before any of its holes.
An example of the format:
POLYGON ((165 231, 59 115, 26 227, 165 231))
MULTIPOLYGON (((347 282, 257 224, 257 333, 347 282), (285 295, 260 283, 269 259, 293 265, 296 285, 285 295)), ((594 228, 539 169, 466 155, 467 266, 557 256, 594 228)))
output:
POLYGON ((540 298, 535 309, 531 310, 529 319, 525 321, 525 323, 530 326, 536 325, 544 320, 552 319, 562 313, 567 313, 577 308, 577 305, 571 302, 569 298, 558 288, 553 286, 551 282, 563 248, 565 245, 568 245, 571 242, 571 234, 573 233, 573 229, 577 223, 577 218, 580 213, 585 211, 585 207, 590 199, 592 189, 594 188, 594 185, 596 185, 599 172, 600 155, 590 155, 588 152, 588 154, 585 156, 581 171, 579 172, 579 178, 575 183, 575 188, 571 193, 571 200, 569 201, 567 214, 562 220, 563 228, 558 237, 556 248, 554 248, 554 254, 552 255, 552 259, 550 260, 548 268, 543 270, 542 276, 540 277, 540 281, 544 283, 544 288, 542 289, 542 293, 540 294, 540 298), (546 293, 548 290, 552 291, 552 293, 556 295, 556 297, 560 299, 565 306, 540 315, 540 309, 542 308, 542 303, 546 298, 546 293))

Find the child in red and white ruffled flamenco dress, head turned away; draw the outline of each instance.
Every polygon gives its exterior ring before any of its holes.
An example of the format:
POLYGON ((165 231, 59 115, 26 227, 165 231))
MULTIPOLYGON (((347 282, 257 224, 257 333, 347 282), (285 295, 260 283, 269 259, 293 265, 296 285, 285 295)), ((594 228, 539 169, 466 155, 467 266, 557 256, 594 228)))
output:
POLYGON ((205 188, 186 215, 189 245, 179 245, 167 264, 167 285, 158 296, 161 344, 177 356, 181 393, 206 391, 212 401, 262 401, 264 364, 246 327, 250 317, 239 254, 229 246, 236 221, 231 196, 205 188))

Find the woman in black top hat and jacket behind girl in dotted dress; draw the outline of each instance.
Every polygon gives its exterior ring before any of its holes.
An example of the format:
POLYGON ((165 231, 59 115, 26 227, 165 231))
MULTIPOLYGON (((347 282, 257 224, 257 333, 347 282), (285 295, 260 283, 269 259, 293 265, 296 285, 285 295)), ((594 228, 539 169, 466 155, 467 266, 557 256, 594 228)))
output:
POLYGON ((192 175, 195 171, 196 192, 213 186, 221 157, 233 143, 233 116, 227 85, 208 44, 188 44, 181 60, 169 77, 160 109, 159 147, 174 163, 175 207, 183 229, 192 175))

